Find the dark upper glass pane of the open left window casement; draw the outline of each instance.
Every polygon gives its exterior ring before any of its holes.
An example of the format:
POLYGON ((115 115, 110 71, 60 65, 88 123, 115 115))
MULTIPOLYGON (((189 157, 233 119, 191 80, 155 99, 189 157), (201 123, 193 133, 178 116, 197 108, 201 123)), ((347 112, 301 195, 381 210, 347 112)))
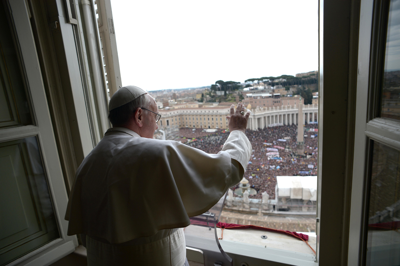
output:
POLYGON ((32 124, 6 12, 2 1, 0 3, 0 128, 32 124))

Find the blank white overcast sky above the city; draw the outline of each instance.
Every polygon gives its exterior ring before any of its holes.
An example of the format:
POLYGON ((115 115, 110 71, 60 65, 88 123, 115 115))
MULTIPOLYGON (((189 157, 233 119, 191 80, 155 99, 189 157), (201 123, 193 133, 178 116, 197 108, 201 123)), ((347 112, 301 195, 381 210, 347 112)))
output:
POLYGON ((148 91, 318 70, 317 0, 111 0, 122 85, 148 91))

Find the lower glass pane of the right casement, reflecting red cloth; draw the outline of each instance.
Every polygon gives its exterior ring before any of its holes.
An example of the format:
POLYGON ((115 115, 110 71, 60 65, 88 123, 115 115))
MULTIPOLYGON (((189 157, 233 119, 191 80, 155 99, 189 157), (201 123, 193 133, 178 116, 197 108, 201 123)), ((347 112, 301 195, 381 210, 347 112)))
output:
POLYGON ((374 142, 366 265, 400 265, 399 229, 400 152, 374 142))

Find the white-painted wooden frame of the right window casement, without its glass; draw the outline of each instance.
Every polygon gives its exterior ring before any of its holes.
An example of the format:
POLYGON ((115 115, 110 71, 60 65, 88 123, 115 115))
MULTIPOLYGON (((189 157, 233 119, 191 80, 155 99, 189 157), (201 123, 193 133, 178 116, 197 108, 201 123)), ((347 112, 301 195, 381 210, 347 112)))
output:
MULTIPOLYGON (((350 209, 350 232, 348 265, 365 264, 366 199, 368 199, 368 165, 370 165, 371 141, 378 141, 400 150, 400 121, 377 117, 380 93, 377 16, 380 1, 364 0, 360 6, 360 34, 358 48, 358 80, 356 103, 356 130, 354 141, 354 163, 352 197, 350 209), (374 14, 375 13, 375 14, 374 14), (375 17, 374 17, 375 16, 375 17), (377 58, 378 57, 378 58, 377 58), (377 60, 378 61, 377 61, 377 60)), ((384 35, 386 36, 386 34, 384 35)), ((385 40, 386 44, 386 40, 385 40)), ((383 68, 381 69, 383 71, 383 68)))

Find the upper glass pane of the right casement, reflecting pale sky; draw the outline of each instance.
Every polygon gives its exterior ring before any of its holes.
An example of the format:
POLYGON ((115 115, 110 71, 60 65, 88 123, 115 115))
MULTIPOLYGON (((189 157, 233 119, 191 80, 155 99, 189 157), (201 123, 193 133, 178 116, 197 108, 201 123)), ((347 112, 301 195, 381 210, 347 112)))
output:
POLYGON ((400 119, 400 0, 390 1, 381 116, 400 119))

